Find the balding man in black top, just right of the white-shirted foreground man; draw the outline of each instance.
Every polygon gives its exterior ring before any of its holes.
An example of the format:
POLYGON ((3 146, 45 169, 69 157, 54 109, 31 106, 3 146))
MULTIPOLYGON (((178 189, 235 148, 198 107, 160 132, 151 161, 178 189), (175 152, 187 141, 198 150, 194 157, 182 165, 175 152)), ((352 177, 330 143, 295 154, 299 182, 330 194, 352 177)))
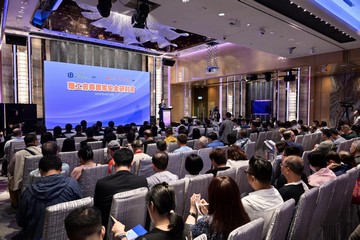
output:
POLYGON ((308 186, 301 180, 303 170, 304 160, 298 156, 286 157, 281 163, 281 173, 287 180, 287 183, 279 189, 284 202, 293 198, 297 204, 300 196, 309 190, 308 186))

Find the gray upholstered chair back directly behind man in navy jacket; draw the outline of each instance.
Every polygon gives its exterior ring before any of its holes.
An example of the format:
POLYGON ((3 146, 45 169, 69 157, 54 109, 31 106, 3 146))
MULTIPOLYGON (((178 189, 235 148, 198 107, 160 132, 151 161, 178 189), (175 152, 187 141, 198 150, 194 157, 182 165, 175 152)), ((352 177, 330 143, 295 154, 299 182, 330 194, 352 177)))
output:
POLYGON ((92 207, 92 197, 82 198, 74 201, 59 203, 45 210, 44 240, 68 239, 64 226, 64 219, 74 209, 81 207, 92 207))

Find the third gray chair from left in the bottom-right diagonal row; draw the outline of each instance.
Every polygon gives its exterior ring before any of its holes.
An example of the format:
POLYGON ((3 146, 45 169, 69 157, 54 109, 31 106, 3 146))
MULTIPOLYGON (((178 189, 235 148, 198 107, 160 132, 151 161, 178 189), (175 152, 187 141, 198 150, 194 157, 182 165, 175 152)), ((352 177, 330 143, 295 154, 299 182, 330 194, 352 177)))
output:
POLYGON ((296 206, 293 220, 287 235, 289 240, 308 239, 309 225, 316 208, 319 188, 312 188, 303 193, 296 206))

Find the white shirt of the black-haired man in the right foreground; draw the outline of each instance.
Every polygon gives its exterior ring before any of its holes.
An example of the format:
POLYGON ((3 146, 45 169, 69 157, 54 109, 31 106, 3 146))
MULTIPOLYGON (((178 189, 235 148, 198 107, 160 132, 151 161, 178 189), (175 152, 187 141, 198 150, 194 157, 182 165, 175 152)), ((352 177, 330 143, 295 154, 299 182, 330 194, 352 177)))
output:
POLYGON ((241 202, 250 220, 260 217, 264 219, 262 238, 266 236, 273 213, 284 203, 280 193, 274 187, 251 192, 243 197, 241 202))

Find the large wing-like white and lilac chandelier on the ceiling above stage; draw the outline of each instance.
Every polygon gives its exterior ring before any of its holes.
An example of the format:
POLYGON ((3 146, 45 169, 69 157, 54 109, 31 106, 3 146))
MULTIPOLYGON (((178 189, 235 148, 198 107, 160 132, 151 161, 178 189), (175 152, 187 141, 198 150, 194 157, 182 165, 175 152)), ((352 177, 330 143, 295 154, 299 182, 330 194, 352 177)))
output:
POLYGON ((160 49, 168 46, 177 47, 176 44, 170 41, 179 37, 189 36, 188 33, 177 33, 174 31, 174 28, 156 23, 151 19, 147 19, 145 28, 136 28, 133 27, 133 20, 130 16, 111 11, 109 17, 103 18, 96 6, 83 3, 79 0, 75 0, 75 2, 81 9, 86 10, 81 12, 81 14, 85 18, 93 20, 90 23, 91 25, 104 28, 107 32, 123 37, 124 44, 126 45, 142 45, 150 41, 157 43, 160 49))

